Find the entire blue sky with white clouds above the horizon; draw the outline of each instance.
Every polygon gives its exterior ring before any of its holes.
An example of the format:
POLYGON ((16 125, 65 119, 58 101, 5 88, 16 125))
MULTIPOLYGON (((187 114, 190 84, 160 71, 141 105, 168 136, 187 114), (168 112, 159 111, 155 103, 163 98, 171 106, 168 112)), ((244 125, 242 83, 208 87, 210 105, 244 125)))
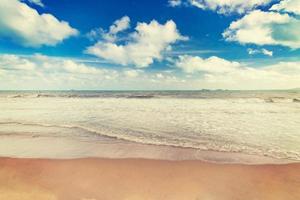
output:
POLYGON ((300 0, 0 0, 1 90, 300 87, 300 0))

